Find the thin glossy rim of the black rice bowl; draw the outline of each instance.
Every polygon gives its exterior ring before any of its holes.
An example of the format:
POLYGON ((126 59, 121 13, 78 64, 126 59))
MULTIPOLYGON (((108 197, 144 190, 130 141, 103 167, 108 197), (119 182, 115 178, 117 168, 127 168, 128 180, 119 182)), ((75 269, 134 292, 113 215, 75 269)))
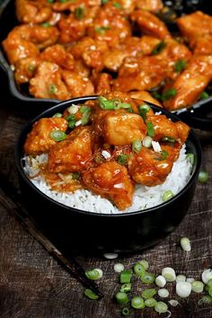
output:
MULTIPOLYGON (((48 110, 42 111, 36 117, 31 119, 26 125, 24 125, 24 127, 22 128, 22 131, 17 139, 15 147, 14 147, 15 165, 16 165, 16 168, 17 168, 20 176, 22 177, 22 180, 25 181, 32 190, 35 190, 35 192, 37 194, 39 194, 43 199, 49 200, 52 204, 56 205, 58 208, 65 209, 68 213, 71 211, 72 213, 76 213, 76 214, 85 214, 85 215, 91 215, 91 216, 97 216, 97 217, 123 217, 123 216, 128 217, 128 216, 137 216, 139 214, 146 214, 146 213, 151 213, 151 212, 155 213, 155 211, 160 210, 160 208, 172 206, 172 203, 175 200, 179 199, 181 197, 181 195, 183 195, 185 192, 187 192, 187 190, 190 189, 190 187, 197 180, 198 175, 199 175, 199 170, 200 170, 200 166, 201 166, 201 159, 202 159, 202 152, 201 152, 201 146, 199 143, 199 138, 195 135, 192 128, 190 129, 190 135, 188 137, 188 140, 195 147, 196 152, 197 152, 197 156, 196 156, 195 163, 193 165, 193 171, 191 172, 191 175, 190 175, 190 180, 188 181, 188 183, 185 185, 184 188, 182 188, 176 195, 174 195, 172 197, 172 199, 169 199, 168 201, 165 201, 165 202, 163 202, 155 207, 152 207, 152 208, 146 208, 143 210, 126 212, 126 213, 120 212, 120 213, 114 213, 114 214, 97 213, 97 212, 90 212, 90 211, 81 210, 78 208, 72 208, 72 207, 66 206, 63 203, 57 202, 57 200, 55 200, 55 199, 49 198, 49 196, 47 194, 45 194, 44 192, 39 190, 31 182, 31 180, 27 177, 27 175, 23 171, 23 167, 22 167, 22 155, 23 155, 22 146, 23 146, 23 142, 24 142, 27 134, 30 132, 31 127, 34 124, 34 122, 36 122, 38 119, 43 118, 45 116, 50 117, 51 113, 54 113, 54 112, 56 113, 60 109, 65 110, 66 107, 70 106, 70 104, 83 103, 83 102, 87 102, 87 101, 94 101, 98 97, 99 97, 98 95, 89 95, 89 96, 77 97, 74 99, 70 99, 70 100, 67 100, 65 102, 59 102, 57 105, 50 107, 48 110)), ((175 114, 173 114, 169 110, 162 109, 162 108, 155 106, 154 104, 151 104, 151 103, 149 103, 149 105, 151 106, 151 108, 153 108, 153 110, 162 111, 164 115, 166 115, 167 117, 169 117, 171 119, 174 119, 175 121, 181 120, 178 116, 176 116, 175 114)))

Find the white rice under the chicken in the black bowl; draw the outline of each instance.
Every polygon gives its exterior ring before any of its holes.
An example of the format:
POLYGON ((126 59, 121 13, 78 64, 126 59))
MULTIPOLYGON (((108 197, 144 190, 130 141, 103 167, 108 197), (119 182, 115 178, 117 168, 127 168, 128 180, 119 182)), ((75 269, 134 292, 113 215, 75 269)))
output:
MULTIPOLYGON (((39 164, 47 161, 47 155, 37 155, 30 165, 29 157, 23 158, 25 161, 24 171, 27 176, 33 177, 39 171, 39 164)), ((186 158, 185 146, 182 146, 178 160, 173 163, 172 172, 168 175, 163 184, 155 187, 146 187, 137 184, 133 203, 130 208, 119 211, 108 199, 102 199, 100 195, 95 195, 89 190, 76 190, 75 193, 62 193, 51 190, 47 182, 40 176, 31 179, 31 182, 49 198, 60 202, 67 207, 78 208, 95 213, 119 214, 134 212, 146 208, 155 207, 163 203, 162 195, 166 190, 172 190, 176 195, 182 190, 190 180, 192 165, 186 158)))

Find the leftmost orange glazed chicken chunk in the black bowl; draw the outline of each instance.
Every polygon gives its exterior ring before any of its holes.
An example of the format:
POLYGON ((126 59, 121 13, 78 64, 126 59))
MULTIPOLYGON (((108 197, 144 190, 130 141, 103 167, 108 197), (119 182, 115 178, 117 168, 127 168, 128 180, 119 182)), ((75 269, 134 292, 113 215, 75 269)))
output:
POLYGON ((47 153, 57 141, 50 136, 54 130, 66 131, 67 121, 62 118, 43 118, 36 121, 24 144, 27 155, 47 153))

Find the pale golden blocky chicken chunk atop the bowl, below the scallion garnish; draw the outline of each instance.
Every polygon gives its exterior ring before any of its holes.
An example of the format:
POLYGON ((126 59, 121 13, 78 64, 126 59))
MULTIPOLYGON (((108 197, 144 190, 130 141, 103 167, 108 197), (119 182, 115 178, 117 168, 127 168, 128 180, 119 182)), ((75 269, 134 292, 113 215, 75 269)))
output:
POLYGON ((106 115, 103 119, 103 136, 109 145, 125 146, 134 140, 143 140, 146 136, 146 125, 137 114, 119 112, 106 115))

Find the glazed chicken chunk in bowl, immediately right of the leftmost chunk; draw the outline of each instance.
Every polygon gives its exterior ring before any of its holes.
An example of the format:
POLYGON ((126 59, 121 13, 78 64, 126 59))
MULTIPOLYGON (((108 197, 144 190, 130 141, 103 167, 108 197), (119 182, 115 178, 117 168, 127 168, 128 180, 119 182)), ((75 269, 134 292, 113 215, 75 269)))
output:
POLYGON ((49 172, 78 172, 88 168, 92 158, 91 129, 75 128, 66 140, 49 151, 49 172))

